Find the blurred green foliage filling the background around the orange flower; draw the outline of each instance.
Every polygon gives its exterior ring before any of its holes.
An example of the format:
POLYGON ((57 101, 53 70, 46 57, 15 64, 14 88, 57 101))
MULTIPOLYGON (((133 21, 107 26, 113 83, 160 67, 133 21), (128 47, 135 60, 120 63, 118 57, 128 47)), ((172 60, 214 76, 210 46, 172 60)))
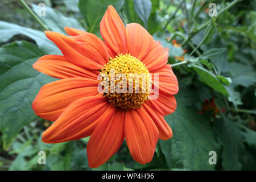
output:
MULTIPOLYGON (((36 13, 42 1, 26 2, 36 13)), ((255 1, 215 1, 216 18, 208 15, 208 0, 44 3, 46 17, 39 18, 49 30, 65 34, 63 27, 69 26, 100 36, 100 20, 113 5, 123 22, 141 24, 170 50, 168 63, 175 65, 179 81, 177 109, 165 117, 173 137, 159 140, 151 163, 134 162, 123 142, 117 154, 97 169, 88 167, 89 138, 43 143, 42 133, 51 122, 36 117, 31 104, 40 87, 54 79, 35 71, 32 64, 40 56, 60 51, 21 3, 2 0, 1 170, 256 169, 255 1), (181 56, 184 61, 177 59, 181 56), (39 151, 46 152, 46 165, 38 164, 39 151), (217 152, 216 165, 208 163, 209 151, 217 152)))

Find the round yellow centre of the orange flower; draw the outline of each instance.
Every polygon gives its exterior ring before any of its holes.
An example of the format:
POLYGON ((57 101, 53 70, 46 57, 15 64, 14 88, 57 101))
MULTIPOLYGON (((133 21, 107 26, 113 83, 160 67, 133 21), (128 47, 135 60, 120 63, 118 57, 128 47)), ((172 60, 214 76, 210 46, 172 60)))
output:
MULTIPOLYGON (((121 109, 136 109, 147 100, 151 88, 151 78, 141 60, 130 54, 110 58, 101 69, 107 78, 103 88, 104 97, 121 109)), ((102 81, 101 80, 101 81, 102 81)))

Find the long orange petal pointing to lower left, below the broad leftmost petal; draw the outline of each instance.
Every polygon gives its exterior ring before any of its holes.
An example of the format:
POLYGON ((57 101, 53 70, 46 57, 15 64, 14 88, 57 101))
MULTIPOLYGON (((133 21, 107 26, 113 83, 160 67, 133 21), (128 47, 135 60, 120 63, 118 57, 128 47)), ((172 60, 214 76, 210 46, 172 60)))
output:
POLYGON ((43 133, 44 143, 60 143, 88 137, 101 121, 110 118, 113 111, 102 96, 84 97, 72 102, 60 117, 43 133))

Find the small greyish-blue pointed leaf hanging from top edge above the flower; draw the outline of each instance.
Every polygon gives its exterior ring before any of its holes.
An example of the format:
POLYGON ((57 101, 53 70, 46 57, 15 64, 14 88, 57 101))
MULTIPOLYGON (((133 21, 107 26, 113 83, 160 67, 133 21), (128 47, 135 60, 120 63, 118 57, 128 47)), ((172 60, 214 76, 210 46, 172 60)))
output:
POLYGON ((144 23, 144 27, 147 29, 147 20, 152 10, 152 3, 150 0, 133 0, 134 10, 136 14, 141 18, 144 23))

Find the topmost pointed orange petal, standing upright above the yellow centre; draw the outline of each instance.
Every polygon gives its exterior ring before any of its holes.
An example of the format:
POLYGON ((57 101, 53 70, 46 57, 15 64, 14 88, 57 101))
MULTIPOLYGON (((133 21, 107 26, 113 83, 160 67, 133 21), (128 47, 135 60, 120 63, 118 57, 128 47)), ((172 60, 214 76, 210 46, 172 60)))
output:
POLYGON ((102 38, 115 53, 126 53, 126 28, 111 5, 101 20, 100 32, 102 38))

